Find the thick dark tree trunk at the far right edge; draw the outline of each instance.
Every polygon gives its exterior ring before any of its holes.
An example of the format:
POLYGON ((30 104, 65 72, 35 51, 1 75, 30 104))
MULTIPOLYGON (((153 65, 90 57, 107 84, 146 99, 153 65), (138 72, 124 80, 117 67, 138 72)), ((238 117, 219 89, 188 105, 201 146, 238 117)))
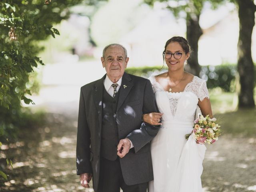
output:
POLYGON ((256 6, 253 0, 236 0, 240 22, 238 38, 238 74, 240 90, 238 108, 254 108, 254 64, 252 62, 252 29, 255 24, 256 6))

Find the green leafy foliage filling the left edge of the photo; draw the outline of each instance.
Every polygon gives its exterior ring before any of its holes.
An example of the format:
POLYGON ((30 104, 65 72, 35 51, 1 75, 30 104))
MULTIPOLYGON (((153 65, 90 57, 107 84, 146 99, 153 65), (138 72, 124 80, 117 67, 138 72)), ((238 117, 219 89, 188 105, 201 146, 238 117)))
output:
MULTIPOLYGON (((0 140, 15 138, 18 129, 28 123, 28 113, 20 104, 34 104, 29 98, 36 88, 34 69, 43 65, 37 57, 42 47, 36 42, 60 33, 54 24, 67 19, 70 7, 96 0, 1 0, 0 1, 0 140)), ((28 116, 31 119, 32 116, 28 116)), ((11 160, 7 161, 12 166, 11 160)), ((6 178, 1 171, 0 176, 6 178)))

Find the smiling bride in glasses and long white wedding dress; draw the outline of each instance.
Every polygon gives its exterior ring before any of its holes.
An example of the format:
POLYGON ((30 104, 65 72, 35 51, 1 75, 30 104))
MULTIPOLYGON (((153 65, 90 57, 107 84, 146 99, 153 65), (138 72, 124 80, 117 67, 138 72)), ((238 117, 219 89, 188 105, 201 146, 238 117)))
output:
POLYGON ((192 132, 198 106, 211 118, 212 109, 206 81, 184 71, 189 56, 187 40, 172 37, 163 52, 168 72, 150 78, 161 113, 144 114, 143 120, 162 126, 151 142, 154 181, 149 192, 202 192, 206 147, 185 135, 192 132))

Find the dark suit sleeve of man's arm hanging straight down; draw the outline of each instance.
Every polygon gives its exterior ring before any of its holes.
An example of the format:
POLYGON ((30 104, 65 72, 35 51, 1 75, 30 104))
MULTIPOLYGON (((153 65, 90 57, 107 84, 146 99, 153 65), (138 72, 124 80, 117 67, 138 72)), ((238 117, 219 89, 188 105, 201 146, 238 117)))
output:
POLYGON ((86 109, 82 88, 78 111, 78 130, 76 142, 76 173, 92 173, 90 163, 90 131, 86 120, 86 109))

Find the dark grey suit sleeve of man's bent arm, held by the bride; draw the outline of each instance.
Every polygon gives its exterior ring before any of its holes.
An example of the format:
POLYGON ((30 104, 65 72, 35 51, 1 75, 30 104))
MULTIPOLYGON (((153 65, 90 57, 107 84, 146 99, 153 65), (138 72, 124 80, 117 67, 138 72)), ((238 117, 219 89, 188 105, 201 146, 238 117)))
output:
MULTIPOLYGON (((154 92, 152 90, 152 85, 149 80, 146 82, 144 89, 143 98, 143 114, 158 112, 156 106, 156 100, 154 92)), ((127 138, 131 140, 134 145, 135 153, 138 152, 144 145, 146 145, 150 140, 152 140, 158 133, 160 126, 154 126, 148 123, 142 123, 140 129, 132 131, 127 138)))

